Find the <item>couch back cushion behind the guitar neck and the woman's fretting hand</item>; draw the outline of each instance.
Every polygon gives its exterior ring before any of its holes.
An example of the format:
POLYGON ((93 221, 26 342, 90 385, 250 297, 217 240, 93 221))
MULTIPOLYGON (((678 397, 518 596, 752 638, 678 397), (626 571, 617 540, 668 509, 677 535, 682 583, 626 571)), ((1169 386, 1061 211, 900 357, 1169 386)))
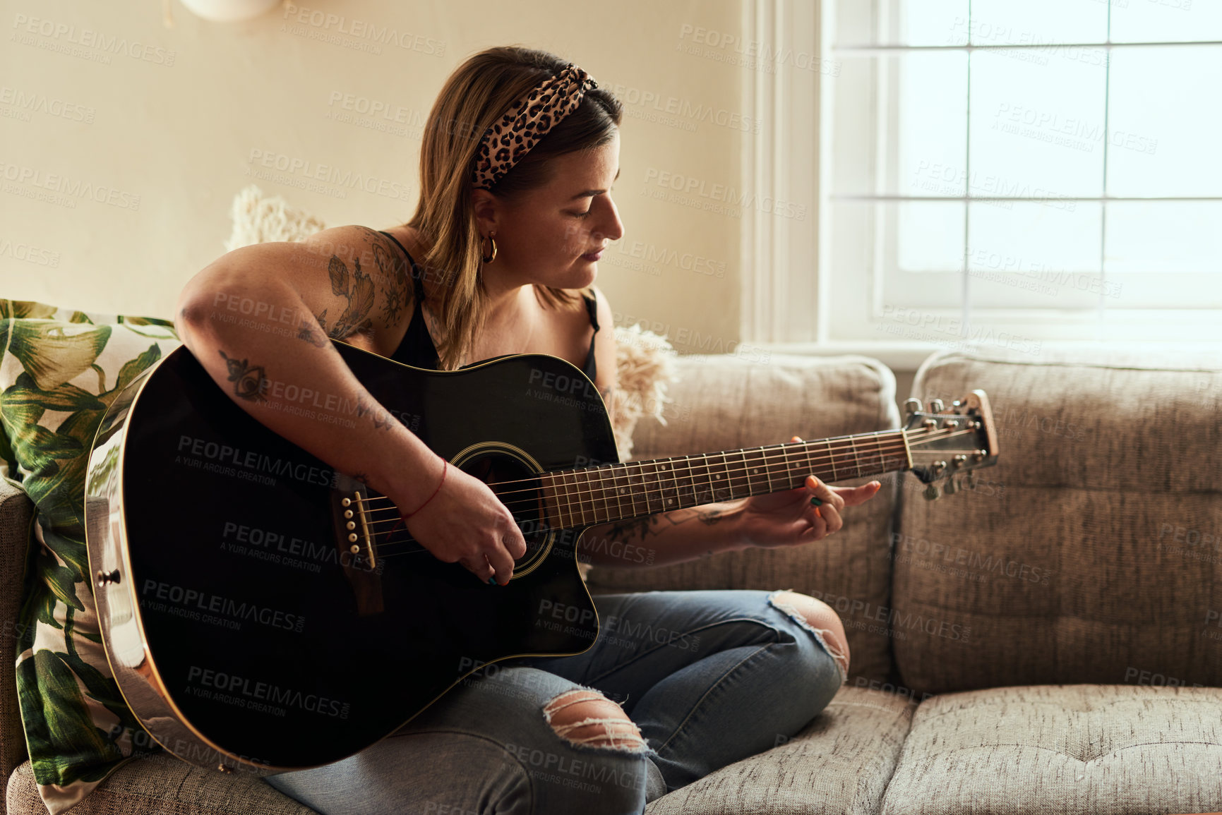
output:
MULTIPOLYGON (((676 359, 666 424, 645 417, 633 437, 634 459, 734 450, 897 428, 895 375, 869 357, 683 356, 676 359)), ((906 477, 910 478, 910 477, 906 477)), ((842 481, 855 486, 869 478, 842 481)), ((885 681, 890 644, 877 623, 891 590, 887 534, 895 477, 865 505, 846 512, 844 528, 797 549, 725 552, 659 568, 595 568, 594 591, 661 589, 793 589, 820 598, 844 621, 851 674, 885 681), (881 612, 881 613, 880 613, 881 612)))

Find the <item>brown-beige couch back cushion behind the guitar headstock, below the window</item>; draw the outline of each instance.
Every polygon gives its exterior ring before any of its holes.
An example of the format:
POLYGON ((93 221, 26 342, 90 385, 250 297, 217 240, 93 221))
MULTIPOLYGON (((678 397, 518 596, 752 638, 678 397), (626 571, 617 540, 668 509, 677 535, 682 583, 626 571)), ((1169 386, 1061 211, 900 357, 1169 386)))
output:
POLYGON ((1216 353, 943 352, 913 387, 947 402, 984 389, 1001 461, 976 491, 904 492, 903 684, 1222 684, 1216 353))

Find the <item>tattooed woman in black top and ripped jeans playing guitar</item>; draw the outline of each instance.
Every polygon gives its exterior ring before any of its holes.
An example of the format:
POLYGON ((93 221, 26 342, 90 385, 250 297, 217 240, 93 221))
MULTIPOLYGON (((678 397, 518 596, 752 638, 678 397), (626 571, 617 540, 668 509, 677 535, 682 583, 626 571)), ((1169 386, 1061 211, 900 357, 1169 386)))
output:
MULTIPOLYGON (((623 233, 610 192, 620 116, 610 93, 551 54, 477 54, 429 115, 411 221, 229 253, 185 288, 183 341, 255 419, 390 497, 433 555, 505 585, 525 551, 508 510, 382 409, 327 337, 445 369, 554 354, 610 398, 611 308, 593 282, 623 233), (222 297, 252 298, 277 325, 302 319, 296 332, 211 319, 222 297), (275 381, 357 401, 360 422, 281 409, 275 381)), ((646 547, 656 565, 799 545, 840 529, 843 508, 877 488, 810 477, 797 490, 589 529, 582 546, 591 562, 620 565, 639 558, 609 551, 646 547), (607 538, 624 545, 598 545, 607 538)), ((485 667, 393 737, 268 783, 320 813, 639 813, 798 732, 847 676, 840 619, 805 595, 649 593, 596 606, 604 632, 587 652, 485 667), (606 635, 613 622, 620 635, 606 635)))

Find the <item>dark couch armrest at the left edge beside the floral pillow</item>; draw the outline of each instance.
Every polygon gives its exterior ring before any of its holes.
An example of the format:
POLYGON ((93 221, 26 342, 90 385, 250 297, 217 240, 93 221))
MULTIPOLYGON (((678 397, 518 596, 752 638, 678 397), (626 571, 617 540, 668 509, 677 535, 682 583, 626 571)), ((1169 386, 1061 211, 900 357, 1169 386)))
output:
MULTIPOLYGON (((0 776, 26 760, 26 733, 17 709, 17 612, 26 574, 26 549, 34 505, 20 486, 0 479, 0 776)), ((4 815, 0 795, 0 815, 4 815)))

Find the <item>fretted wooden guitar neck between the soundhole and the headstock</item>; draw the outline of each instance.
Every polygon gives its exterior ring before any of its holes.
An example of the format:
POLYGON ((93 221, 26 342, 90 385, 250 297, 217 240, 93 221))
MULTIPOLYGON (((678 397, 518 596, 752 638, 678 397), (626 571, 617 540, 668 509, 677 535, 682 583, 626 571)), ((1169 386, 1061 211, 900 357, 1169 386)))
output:
POLYGON ((908 469, 902 430, 545 473, 544 501, 557 528, 637 518, 802 486, 908 469))

